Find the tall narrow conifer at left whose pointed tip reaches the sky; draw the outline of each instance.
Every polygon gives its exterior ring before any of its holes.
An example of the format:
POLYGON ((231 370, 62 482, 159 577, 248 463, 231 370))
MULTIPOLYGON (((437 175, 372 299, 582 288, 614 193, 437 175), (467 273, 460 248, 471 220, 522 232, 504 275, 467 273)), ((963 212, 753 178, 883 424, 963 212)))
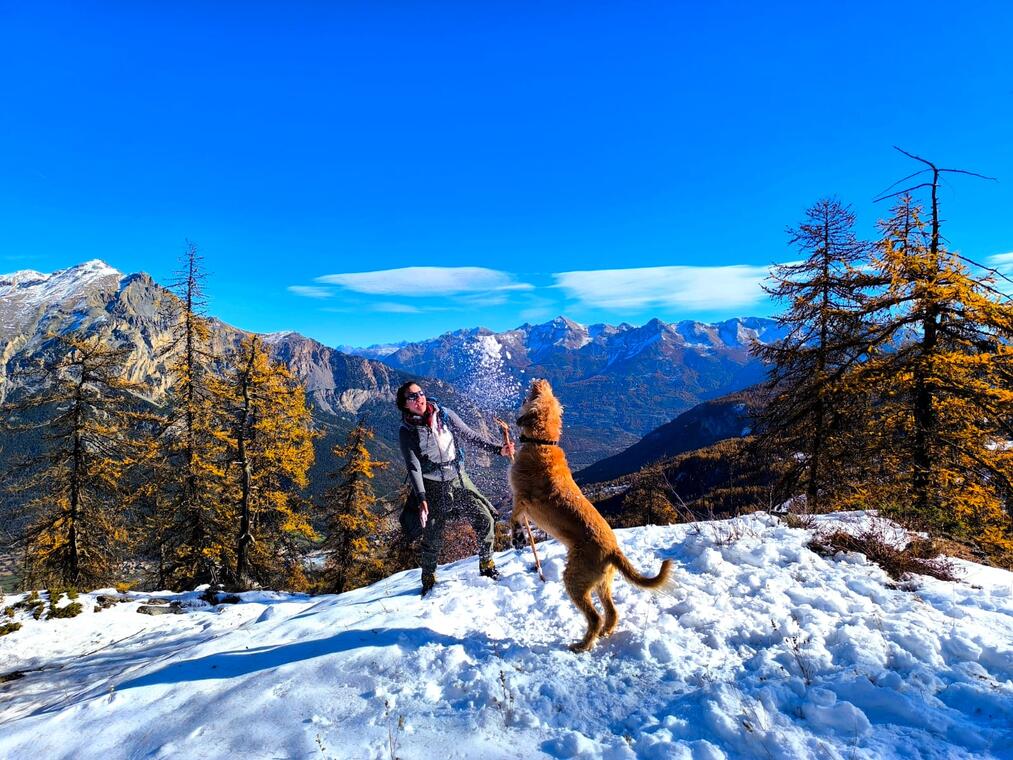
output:
POLYGON ((225 473, 228 443, 211 388, 216 358, 204 316, 204 277, 197 247, 187 243, 173 283, 177 323, 164 354, 173 360, 172 382, 150 526, 158 584, 175 589, 222 583, 235 566, 236 500, 225 473))

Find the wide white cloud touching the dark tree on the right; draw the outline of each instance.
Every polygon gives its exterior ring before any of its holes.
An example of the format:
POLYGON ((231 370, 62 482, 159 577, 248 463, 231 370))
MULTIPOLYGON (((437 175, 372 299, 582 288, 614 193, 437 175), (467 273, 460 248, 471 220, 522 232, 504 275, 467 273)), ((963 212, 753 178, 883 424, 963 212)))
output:
POLYGON ((752 306, 767 298, 761 283, 770 268, 644 267, 633 270, 561 272, 555 287, 596 307, 641 309, 673 306, 714 309, 752 306))

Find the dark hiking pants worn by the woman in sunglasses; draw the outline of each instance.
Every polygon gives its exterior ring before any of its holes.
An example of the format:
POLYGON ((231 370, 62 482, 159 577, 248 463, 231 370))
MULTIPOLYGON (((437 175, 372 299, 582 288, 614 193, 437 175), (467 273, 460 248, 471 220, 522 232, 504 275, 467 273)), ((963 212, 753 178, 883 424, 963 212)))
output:
POLYGON ((462 470, 460 477, 453 480, 426 479, 425 501, 430 505, 430 519, 422 533, 423 571, 436 572, 447 520, 458 515, 467 518, 478 537, 479 561, 491 556, 496 511, 467 472, 462 470))

